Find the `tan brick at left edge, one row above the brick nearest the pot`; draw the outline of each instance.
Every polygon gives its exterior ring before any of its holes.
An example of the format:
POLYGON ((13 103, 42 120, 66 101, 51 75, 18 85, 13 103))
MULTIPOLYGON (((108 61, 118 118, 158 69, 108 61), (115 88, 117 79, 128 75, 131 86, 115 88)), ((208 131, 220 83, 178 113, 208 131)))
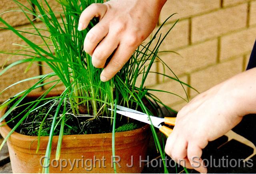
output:
MULTIPOLYGON (((37 28, 45 29, 44 25, 42 23, 36 24, 37 28)), ((27 26, 20 26, 17 27, 17 30, 23 31, 23 32, 31 32, 31 33, 36 33, 35 29, 31 25, 27 26)), ((49 34, 45 31, 41 32, 43 36, 49 36, 49 34)), ((26 33, 21 33, 22 36, 28 38, 30 41, 34 42, 37 45, 40 45, 43 43, 42 39, 39 36, 35 36, 33 34, 26 34, 26 33)), ((46 38, 45 38, 46 39, 46 38)), ((20 45, 27 45, 21 38, 19 38, 16 34, 14 34, 10 30, 2 30, 0 31, 0 43, 4 43, 0 45, 0 51, 8 51, 11 53, 16 52, 17 50, 23 49, 24 47, 19 46, 19 45, 14 45, 14 44, 20 44, 20 45)), ((46 48, 46 47, 43 47, 46 48)), ((32 49, 27 49, 32 51, 32 49)), ((19 53, 26 53, 31 55, 31 53, 25 52, 25 51, 20 51, 19 53)), ((14 61, 23 59, 25 56, 20 56, 20 55, 8 55, 8 54, 3 54, 0 53, 0 66, 2 67, 4 64, 8 65, 10 63, 13 63, 14 61)), ((30 57, 27 57, 30 58, 30 57)))

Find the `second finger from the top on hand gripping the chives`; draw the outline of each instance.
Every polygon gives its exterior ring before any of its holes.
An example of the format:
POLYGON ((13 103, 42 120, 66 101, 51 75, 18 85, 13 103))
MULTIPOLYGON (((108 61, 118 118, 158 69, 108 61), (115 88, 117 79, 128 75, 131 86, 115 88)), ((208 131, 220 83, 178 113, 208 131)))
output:
POLYGON ((86 34, 86 37, 84 39, 84 51, 92 55, 98 43, 108 34, 108 30, 108 24, 104 23, 103 21, 96 24, 86 34))

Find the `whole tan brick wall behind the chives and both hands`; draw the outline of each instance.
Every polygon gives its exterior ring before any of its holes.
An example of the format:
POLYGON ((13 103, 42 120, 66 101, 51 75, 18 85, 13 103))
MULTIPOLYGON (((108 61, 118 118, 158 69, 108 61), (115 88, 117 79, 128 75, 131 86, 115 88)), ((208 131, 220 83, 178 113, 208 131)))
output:
MULTIPOLYGON (((20 0, 20 2, 27 3, 26 0, 20 0)), ((53 0, 49 2, 52 6, 56 6, 53 0)), ((13 10, 13 8, 12 1, 2 0, 0 13, 8 9, 13 10)), ((159 57, 167 63, 181 81, 203 92, 244 71, 256 39, 256 0, 167 0, 160 15, 159 26, 173 13, 178 14, 164 24, 162 33, 164 34, 177 19, 180 20, 162 43, 160 51, 172 50, 179 55, 165 52, 159 53, 159 57)), ((17 28, 29 28, 26 17, 19 12, 4 14, 3 17, 17 28)), ((0 50, 16 49, 18 46, 12 43, 22 43, 6 30, 0 30, 0 40, 2 41, 0 50)), ((6 59, 6 55, 0 54, 1 66, 4 65, 6 59)), ((12 57, 5 66, 17 59, 22 59, 22 57, 12 57)), ((31 68, 34 69, 33 73, 31 71, 24 73, 25 65, 11 69, 9 73, 0 77, 2 82, 0 90, 2 91, 14 81, 24 79, 24 77, 49 71, 40 68, 37 64, 31 68)), ((158 63, 154 66, 154 70, 162 73, 164 69, 158 63)), ((168 69, 165 69, 165 73, 174 76, 168 69)), ((196 91, 186 86, 182 87, 179 82, 170 81, 160 75, 150 75, 149 79, 148 87, 164 89, 178 95, 155 93, 164 103, 174 109, 182 108, 186 104, 184 99, 187 97, 192 99, 197 95, 196 91)), ((0 101, 21 91, 24 85, 31 84, 21 84, 8 90, 1 96, 0 101)))

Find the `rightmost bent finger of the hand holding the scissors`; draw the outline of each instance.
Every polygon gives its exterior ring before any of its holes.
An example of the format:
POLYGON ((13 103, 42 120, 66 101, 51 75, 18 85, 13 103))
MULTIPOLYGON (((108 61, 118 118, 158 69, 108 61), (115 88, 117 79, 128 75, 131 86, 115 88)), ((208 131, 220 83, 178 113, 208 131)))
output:
POLYGON ((207 173, 207 168, 204 166, 202 161, 202 149, 197 145, 197 143, 188 144, 188 160, 191 166, 200 173, 207 173))

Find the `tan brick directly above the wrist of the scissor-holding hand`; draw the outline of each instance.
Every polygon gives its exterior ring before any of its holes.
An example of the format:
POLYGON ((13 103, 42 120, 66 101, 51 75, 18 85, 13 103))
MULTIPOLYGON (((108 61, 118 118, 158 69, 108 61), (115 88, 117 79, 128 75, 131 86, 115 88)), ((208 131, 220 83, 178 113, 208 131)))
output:
MULTIPOLYGON (((201 93, 242 72, 242 59, 243 57, 238 57, 192 73, 190 75, 192 87, 196 88, 201 93)), ((197 93, 191 90, 191 96, 195 95, 197 95, 197 93)))

